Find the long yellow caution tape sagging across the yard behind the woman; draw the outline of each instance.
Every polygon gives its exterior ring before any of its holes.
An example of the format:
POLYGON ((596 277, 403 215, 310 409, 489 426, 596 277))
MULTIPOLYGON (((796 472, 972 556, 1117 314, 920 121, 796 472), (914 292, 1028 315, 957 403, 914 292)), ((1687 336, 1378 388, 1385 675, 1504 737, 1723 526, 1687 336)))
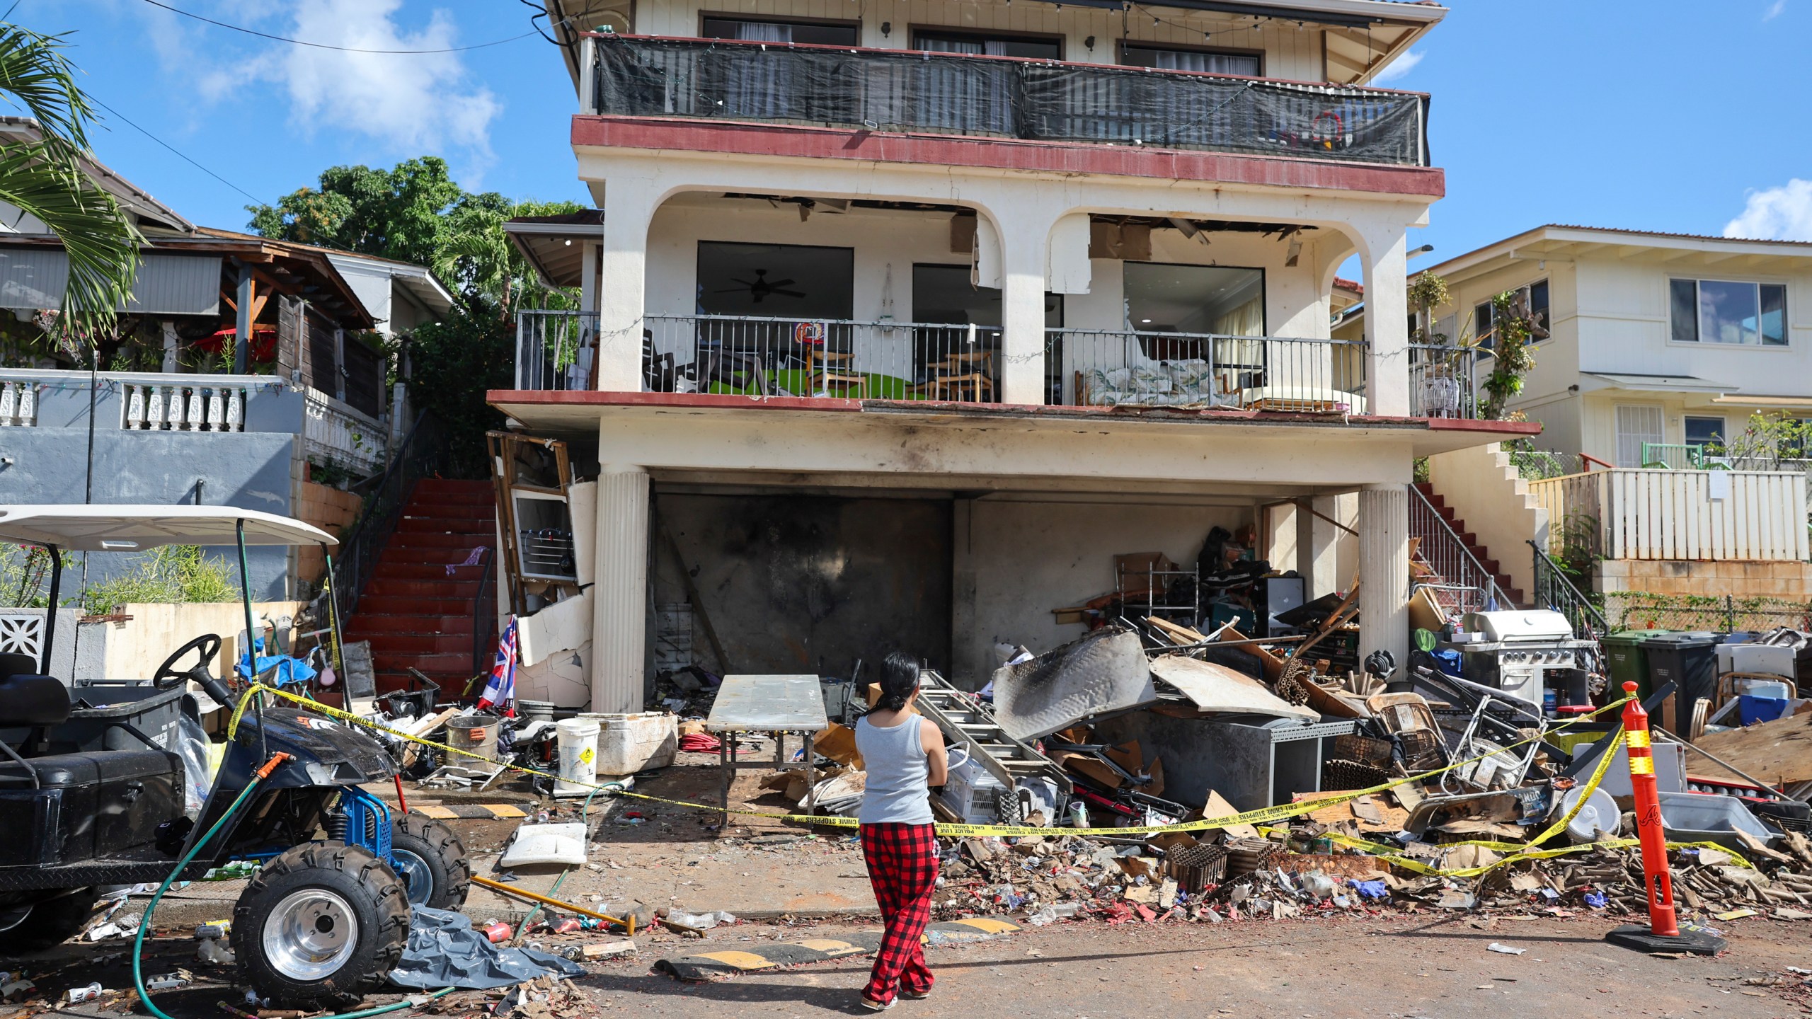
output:
MULTIPOLYGON (((366 729, 375 729, 375 731, 379 731, 379 733, 382 733, 382 734, 386 734, 390 738, 395 738, 395 740, 404 740, 404 742, 410 742, 410 743, 419 743, 422 747, 433 747, 433 749, 437 749, 440 752, 446 752, 446 754, 455 754, 455 756, 480 760, 480 762, 484 762, 487 765, 502 765, 504 769, 518 771, 518 772, 524 772, 524 774, 533 774, 533 776, 540 776, 540 778, 551 778, 551 780, 562 781, 565 785, 578 785, 580 789, 596 789, 596 791, 607 792, 611 796, 620 796, 620 798, 629 798, 629 800, 643 800, 643 801, 651 801, 651 803, 667 803, 670 807, 687 807, 687 809, 694 809, 694 810, 710 810, 710 812, 716 812, 716 814, 737 814, 737 816, 743 816, 743 818, 765 818, 765 820, 772 820, 772 821, 788 821, 788 823, 815 825, 815 827, 832 827, 832 829, 853 829, 853 827, 859 827, 859 821, 855 818, 843 818, 843 816, 834 816, 834 814, 770 814, 770 812, 765 812, 765 810, 734 810, 734 809, 727 809, 727 807, 712 807, 708 803, 692 803, 689 800, 667 800, 663 796, 649 796, 645 792, 631 792, 627 789, 622 789, 616 783, 574 781, 571 778, 562 778, 562 776, 553 774, 549 771, 533 769, 533 767, 518 765, 518 763, 504 763, 504 762, 496 762, 493 758, 487 758, 484 754, 477 754, 477 752, 471 752, 471 751, 462 751, 458 747, 451 747, 448 743, 437 743, 437 742, 426 740, 422 736, 410 736, 406 733, 399 733, 395 729, 390 729, 388 725, 381 725, 377 722, 371 722, 370 718, 361 718, 361 716, 357 716, 357 714, 353 714, 350 711, 342 711, 339 707, 332 707, 332 705, 321 704, 317 700, 310 700, 310 698, 306 698, 303 694, 297 694, 297 693, 283 691, 283 689, 277 689, 277 687, 268 687, 265 684, 252 684, 245 691, 245 696, 239 698, 239 704, 234 707, 232 720, 226 723, 226 738, 228 740, 232 740, 237 734, 237 731, 239 731, 239 720, 245 716, 246 705, 250 705, 252 698, 257 696, 257 694, 261 694, 261 693, 268 693, 268 694, 279 696, 283 700, 299 704, 299 705, 303 705, 303 707, 306 707, 306 709, 310 709, 310 711, 313 711, 317 714, 326 714, 328 718, 337 718, 341 722, 346 722, 348 725, 362 725, 366 729)), ((1424 771, 1421 774, 1412 774, 1408 778, 1397 778, 1397 780, 1384 781, 1384 783, 1379 783, 1379 785, 1372 785, 1372 787, 1366 787, 1366 789, 1350 789, 1350 791, 1343 791, 1343 792, 1339 792, 1335 796, 1325 796, 1325 798, 1319 798, 1319 800, 1306 800, 1306 801, 1301 801, 1301 803, 1279 803, 1276 807, 1261 807, 1258 810, 1245 810, 1245 812, 1239 812, 1239 814, 1227 814, 1227 816, 1221 816, 1221 818, 1200 818, 1200 820, 1194 820, 1194 821, 1174 821, 1174 823, 1167 823, 1167 825, 1127 825, 1127 827, 1116 827, 1116 829, 1055 829, 1055 827, 1033 827, 1033 825, 964 825, 964 823, 948 823, 948 821, 937 821, 935 827, 937 827, 937 834, 949 836, 949 838, 969 838, 969 836, 1049 838, 1049 836, 1060 836, 1060 834, 1125 838, 1125 836, 1152 836, 1152 834, 1169 834, 1169 832, 1201 832, 1201 830, 1229 829, 1229 827, 1234 827, 1234 825, 1265 825, 1265 823, 1272 823, 1272 821, 1285 821, 1285 820, 1290 820, 1290 818, 1299 818, 1303 814, 1310 814, 1314 810, 1323 810, 1326 807, 1337 807, 1341 803, 1352 803, 1354 800, 1359 800, 1361 796, 1375 796, 1379 792, 1388 792, 1392 789, 1397 789, 1399 785, 1408 785, 1412 781, 1424 781, 1428 778, 1435 778, 1439 774, 1444 774, 1444 772, 1450 772, 1450 771, 1455 771, 1455 769, 1460 769, 1460 767, 1468 767, 1468 765, 1479 763, 1482 760, 1493 758, 1493 756, 1497 756, 1500 752, 1513 751, 1517 747, 1526 747, 1529 743, 1546 740, 1547 736, 1553 736, 1555 733, 1562 733, 1562 731, 1566 731, 1566 729, 1569 729, 1573 725, 1578 725, 1578 723, 1587 722, 1591 718, 1596 718, 1596 716, 1600 716, 1600 714, 1604 714, 1607 711, 1622 707, 1624 704, 1627 704, 1631 700, 1634 700, 1634 696, 1624 696, 1624 698, 1614 700, 1614 702, 1611 702, 1611 704, 1607 704, 1604 707, 1598 707, 1598 709, 1595 709, 1595 711, 1591 711, 1587 714, 1580 714, 1578 718, 1575 718, 1571 722, 1564 722, 1564 723, 1560 723, 1560 725, 1557 725, 1553 729, 1547 729, 1546 733, 1540 733, 1537 736, 1529 736, 1526 740, 1518 740, 1515 743, 1506 743, 1506 745, 1499 747, 1497 751, 1491 751, 1489 754, 1479 754, 1477 758, 1455 762, 1455 763, 1450 763, 1446 767, 1437 767, 1433 771, 1424 771)), ((1618 725, 1618 729, 1616 729, 1616 733, 1614 733, 1613 738, 1618 743, 1622 742, 1622 738, 1624 738, 1622 723, 1618 725)), ((1613 756, 1616 756, 1614 751, 1616 751, 1616 745, 1609 747, 1605 751, 1605 754, 1600 758, 1598 769, 1593 772, 1591 783, 1587 785, 1586 792, 1580 796, 1580 803, 1584 803, 1591 796, 1591 791, 1595 791, 1598 787, 1598 781, 1604 778, 1604 772, 1605 772, 1605 767, 1609 765, 1609 760, 1613 756)), ((1557 825, 1549 827, 1546 832, 1542 832, 1540 838, 1542 839, 1551 838, 1555 832, 1558 832, 1560 829, 1564 829, 1566 823, 1571 821, 1573 814, 1576 814, 1576 812, 1578 812, 1578 805, 1575 805, 1573 812, 1569 812, 1566 818, 1562 818, 1560 823, 1557 823, 1557 825)), ((1513 849, 1524 849, 1522 845, 1515 845, 1515 843, 1479 843, 1479 845, 1509 845, 1513 849)), ((1381 849, 1388 850, 1388 847, 1381 847, 1381 849)))

